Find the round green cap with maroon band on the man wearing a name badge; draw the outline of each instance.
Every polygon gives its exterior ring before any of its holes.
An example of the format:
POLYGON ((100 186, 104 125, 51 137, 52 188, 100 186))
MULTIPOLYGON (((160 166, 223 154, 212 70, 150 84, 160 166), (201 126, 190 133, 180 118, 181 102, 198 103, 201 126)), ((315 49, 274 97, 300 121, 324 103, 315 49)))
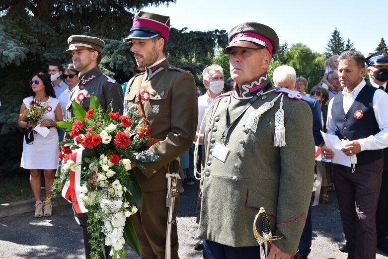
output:
POLYGON ((279 37, 271 27, 248 21, 231 29, 229 32, 229 46, 224 49, 224 54, 229 54, 232 47, 267 48, 273 56, 279 50, 279 37))

